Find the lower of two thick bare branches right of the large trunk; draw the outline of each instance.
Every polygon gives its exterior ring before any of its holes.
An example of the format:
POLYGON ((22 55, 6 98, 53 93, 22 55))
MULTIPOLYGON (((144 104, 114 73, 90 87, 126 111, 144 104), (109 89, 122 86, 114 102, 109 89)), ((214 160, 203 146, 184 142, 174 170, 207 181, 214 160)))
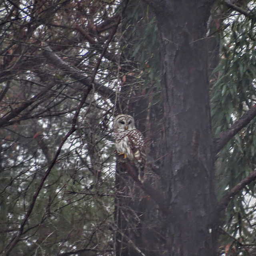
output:
POLYGON ((232 198, 236 194, 238 194, 246 185, 250 184, 255 179, 256 179, 256 170, 254 170, 254 172, 252 172, 250 175, 244 178, 241 182, 236 184, 236 186, 234 186, 231 190, 226 192, 226 194, 220 199, 217 212, 219 213, 222 210, 224 210, 228 206, 228 203, 232 200, 232 198))

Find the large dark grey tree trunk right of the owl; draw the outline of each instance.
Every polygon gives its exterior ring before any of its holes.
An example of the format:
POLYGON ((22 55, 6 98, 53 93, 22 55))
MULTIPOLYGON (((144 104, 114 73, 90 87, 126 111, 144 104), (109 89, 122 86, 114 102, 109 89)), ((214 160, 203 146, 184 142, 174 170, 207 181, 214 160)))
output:
POLYGON ((207 20, 213 1, 150 1, 162 46, 168 255, 214 255, 207 20))

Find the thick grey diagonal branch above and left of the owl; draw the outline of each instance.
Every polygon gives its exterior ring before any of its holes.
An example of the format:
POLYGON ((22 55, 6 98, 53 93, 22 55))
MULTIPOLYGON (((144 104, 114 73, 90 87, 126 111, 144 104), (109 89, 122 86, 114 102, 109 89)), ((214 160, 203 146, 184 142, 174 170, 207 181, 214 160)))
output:
MULTIPOLYGON (((52 65, 54 65, 57 68, 60 68, 71 78, 78 80, 85 86, 90 86, 90 78, 88 78, 80 70, 77 70, 76 68, 71 67, 68 63, 64 62, 56 53, 52 51, 52 49, 49 46, 44 47, 43 50, 44 51, 42 52, 42 54, 52 65)), ((112 89, 98 82, 94 82, 94 86, 96 91, 106 98, 111 99, 115 95, 115 92, 112 89)))

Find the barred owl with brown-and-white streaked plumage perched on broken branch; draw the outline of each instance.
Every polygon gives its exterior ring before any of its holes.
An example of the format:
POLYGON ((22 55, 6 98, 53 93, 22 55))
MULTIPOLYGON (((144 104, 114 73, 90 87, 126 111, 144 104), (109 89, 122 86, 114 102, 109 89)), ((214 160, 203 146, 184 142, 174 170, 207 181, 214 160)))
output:
POLYGON ((142 179, 146 155, 145 142, 135 127, 134 118, 130 115, 118 115, 113 123, 116 151, 128 158, 138 168, 138 177, 142 179))

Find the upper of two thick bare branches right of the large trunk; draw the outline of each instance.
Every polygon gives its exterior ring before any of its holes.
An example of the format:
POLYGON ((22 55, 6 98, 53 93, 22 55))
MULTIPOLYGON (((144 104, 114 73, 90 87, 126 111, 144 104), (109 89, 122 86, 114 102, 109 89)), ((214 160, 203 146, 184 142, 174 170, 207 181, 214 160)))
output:
POLYGON ((217 154, 242 128, 244 128, 256 116, 256 104, 245 112, 230 128, 222 132, 215 141, 215 154, 217 154))

